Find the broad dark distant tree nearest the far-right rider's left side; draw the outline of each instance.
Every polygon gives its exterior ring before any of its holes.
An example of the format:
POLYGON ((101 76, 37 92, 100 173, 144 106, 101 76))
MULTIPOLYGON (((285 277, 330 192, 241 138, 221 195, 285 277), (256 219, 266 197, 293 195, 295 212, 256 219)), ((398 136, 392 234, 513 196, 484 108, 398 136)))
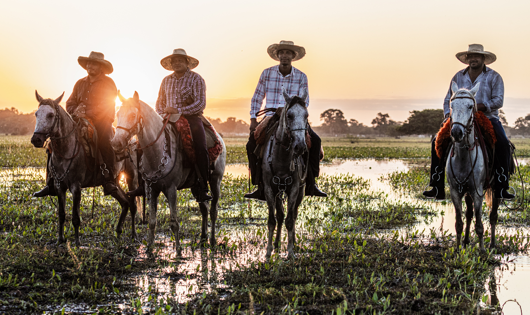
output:
POLYGON ((435 135, 444 121, 443 109, 413 110, 410 113, 409 119, 398 129, 405 135, 435 135))

